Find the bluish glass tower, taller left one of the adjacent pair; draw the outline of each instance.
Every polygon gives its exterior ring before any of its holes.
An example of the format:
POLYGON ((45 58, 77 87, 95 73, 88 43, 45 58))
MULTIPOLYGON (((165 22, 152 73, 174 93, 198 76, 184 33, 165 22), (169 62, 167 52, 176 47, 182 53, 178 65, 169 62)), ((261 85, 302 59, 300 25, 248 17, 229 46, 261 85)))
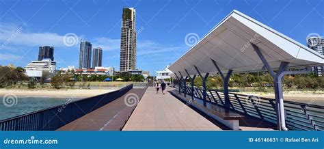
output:
POLYGON ((79 69, 91 68, 92 44, 85 40, 80 42, 79 69))

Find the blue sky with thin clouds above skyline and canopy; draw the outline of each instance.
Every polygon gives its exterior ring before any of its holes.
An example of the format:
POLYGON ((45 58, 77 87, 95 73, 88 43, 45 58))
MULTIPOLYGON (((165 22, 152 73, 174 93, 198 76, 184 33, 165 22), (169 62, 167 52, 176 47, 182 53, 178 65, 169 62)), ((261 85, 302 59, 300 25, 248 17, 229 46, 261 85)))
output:
POLYGON ((136 9, 137 68, 161 70, 189 48, 188 33, 202 38, 232 10, 239 10, 306 44, 324 35, 322 1, 4 1, 0 0, 0 64, 25 67, 38 46, 54 46, 57 68, 78 66, 79 40, 103 47, 103 66, 119 70, 122 8, 136 9), (66 33, 77 44, 66 46, 66 33))

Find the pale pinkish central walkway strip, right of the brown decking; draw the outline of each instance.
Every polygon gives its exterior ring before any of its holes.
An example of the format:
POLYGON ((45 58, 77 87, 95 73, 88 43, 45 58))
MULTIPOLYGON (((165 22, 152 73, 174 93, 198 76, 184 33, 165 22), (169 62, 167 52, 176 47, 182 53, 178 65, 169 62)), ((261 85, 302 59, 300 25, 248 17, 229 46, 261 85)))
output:
MULTIPOLYGON (((167 87, 166 90, 173 90, 167 87)), ((148 87, 123 131, 221 131, 169 92, 148 87)))

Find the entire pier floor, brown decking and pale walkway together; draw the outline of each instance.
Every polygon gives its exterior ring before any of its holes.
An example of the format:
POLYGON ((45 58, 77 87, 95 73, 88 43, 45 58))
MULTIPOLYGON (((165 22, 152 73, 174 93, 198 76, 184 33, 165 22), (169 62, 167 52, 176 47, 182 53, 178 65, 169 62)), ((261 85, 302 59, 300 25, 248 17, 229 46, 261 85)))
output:
MULTIPOLYGON (((170 90, 174 89, 167 87, 166 91, 170 90)), ((154 87, 148 87, 147 90, 132 89, 111 103, 58 128, 57 131, 119 131, 120 128, 122 131, 228 130, 206 114, 191 109, 169 92, 161 94, 160 91, 156 94, 154 87), (127 107, 124 103, 124 97, 129 93, 135 93, 141 98, 136 108, 127 107)), ((242 131, 272 131, 274 128, 273 124, 248 116, 240 120, 242 131)))

